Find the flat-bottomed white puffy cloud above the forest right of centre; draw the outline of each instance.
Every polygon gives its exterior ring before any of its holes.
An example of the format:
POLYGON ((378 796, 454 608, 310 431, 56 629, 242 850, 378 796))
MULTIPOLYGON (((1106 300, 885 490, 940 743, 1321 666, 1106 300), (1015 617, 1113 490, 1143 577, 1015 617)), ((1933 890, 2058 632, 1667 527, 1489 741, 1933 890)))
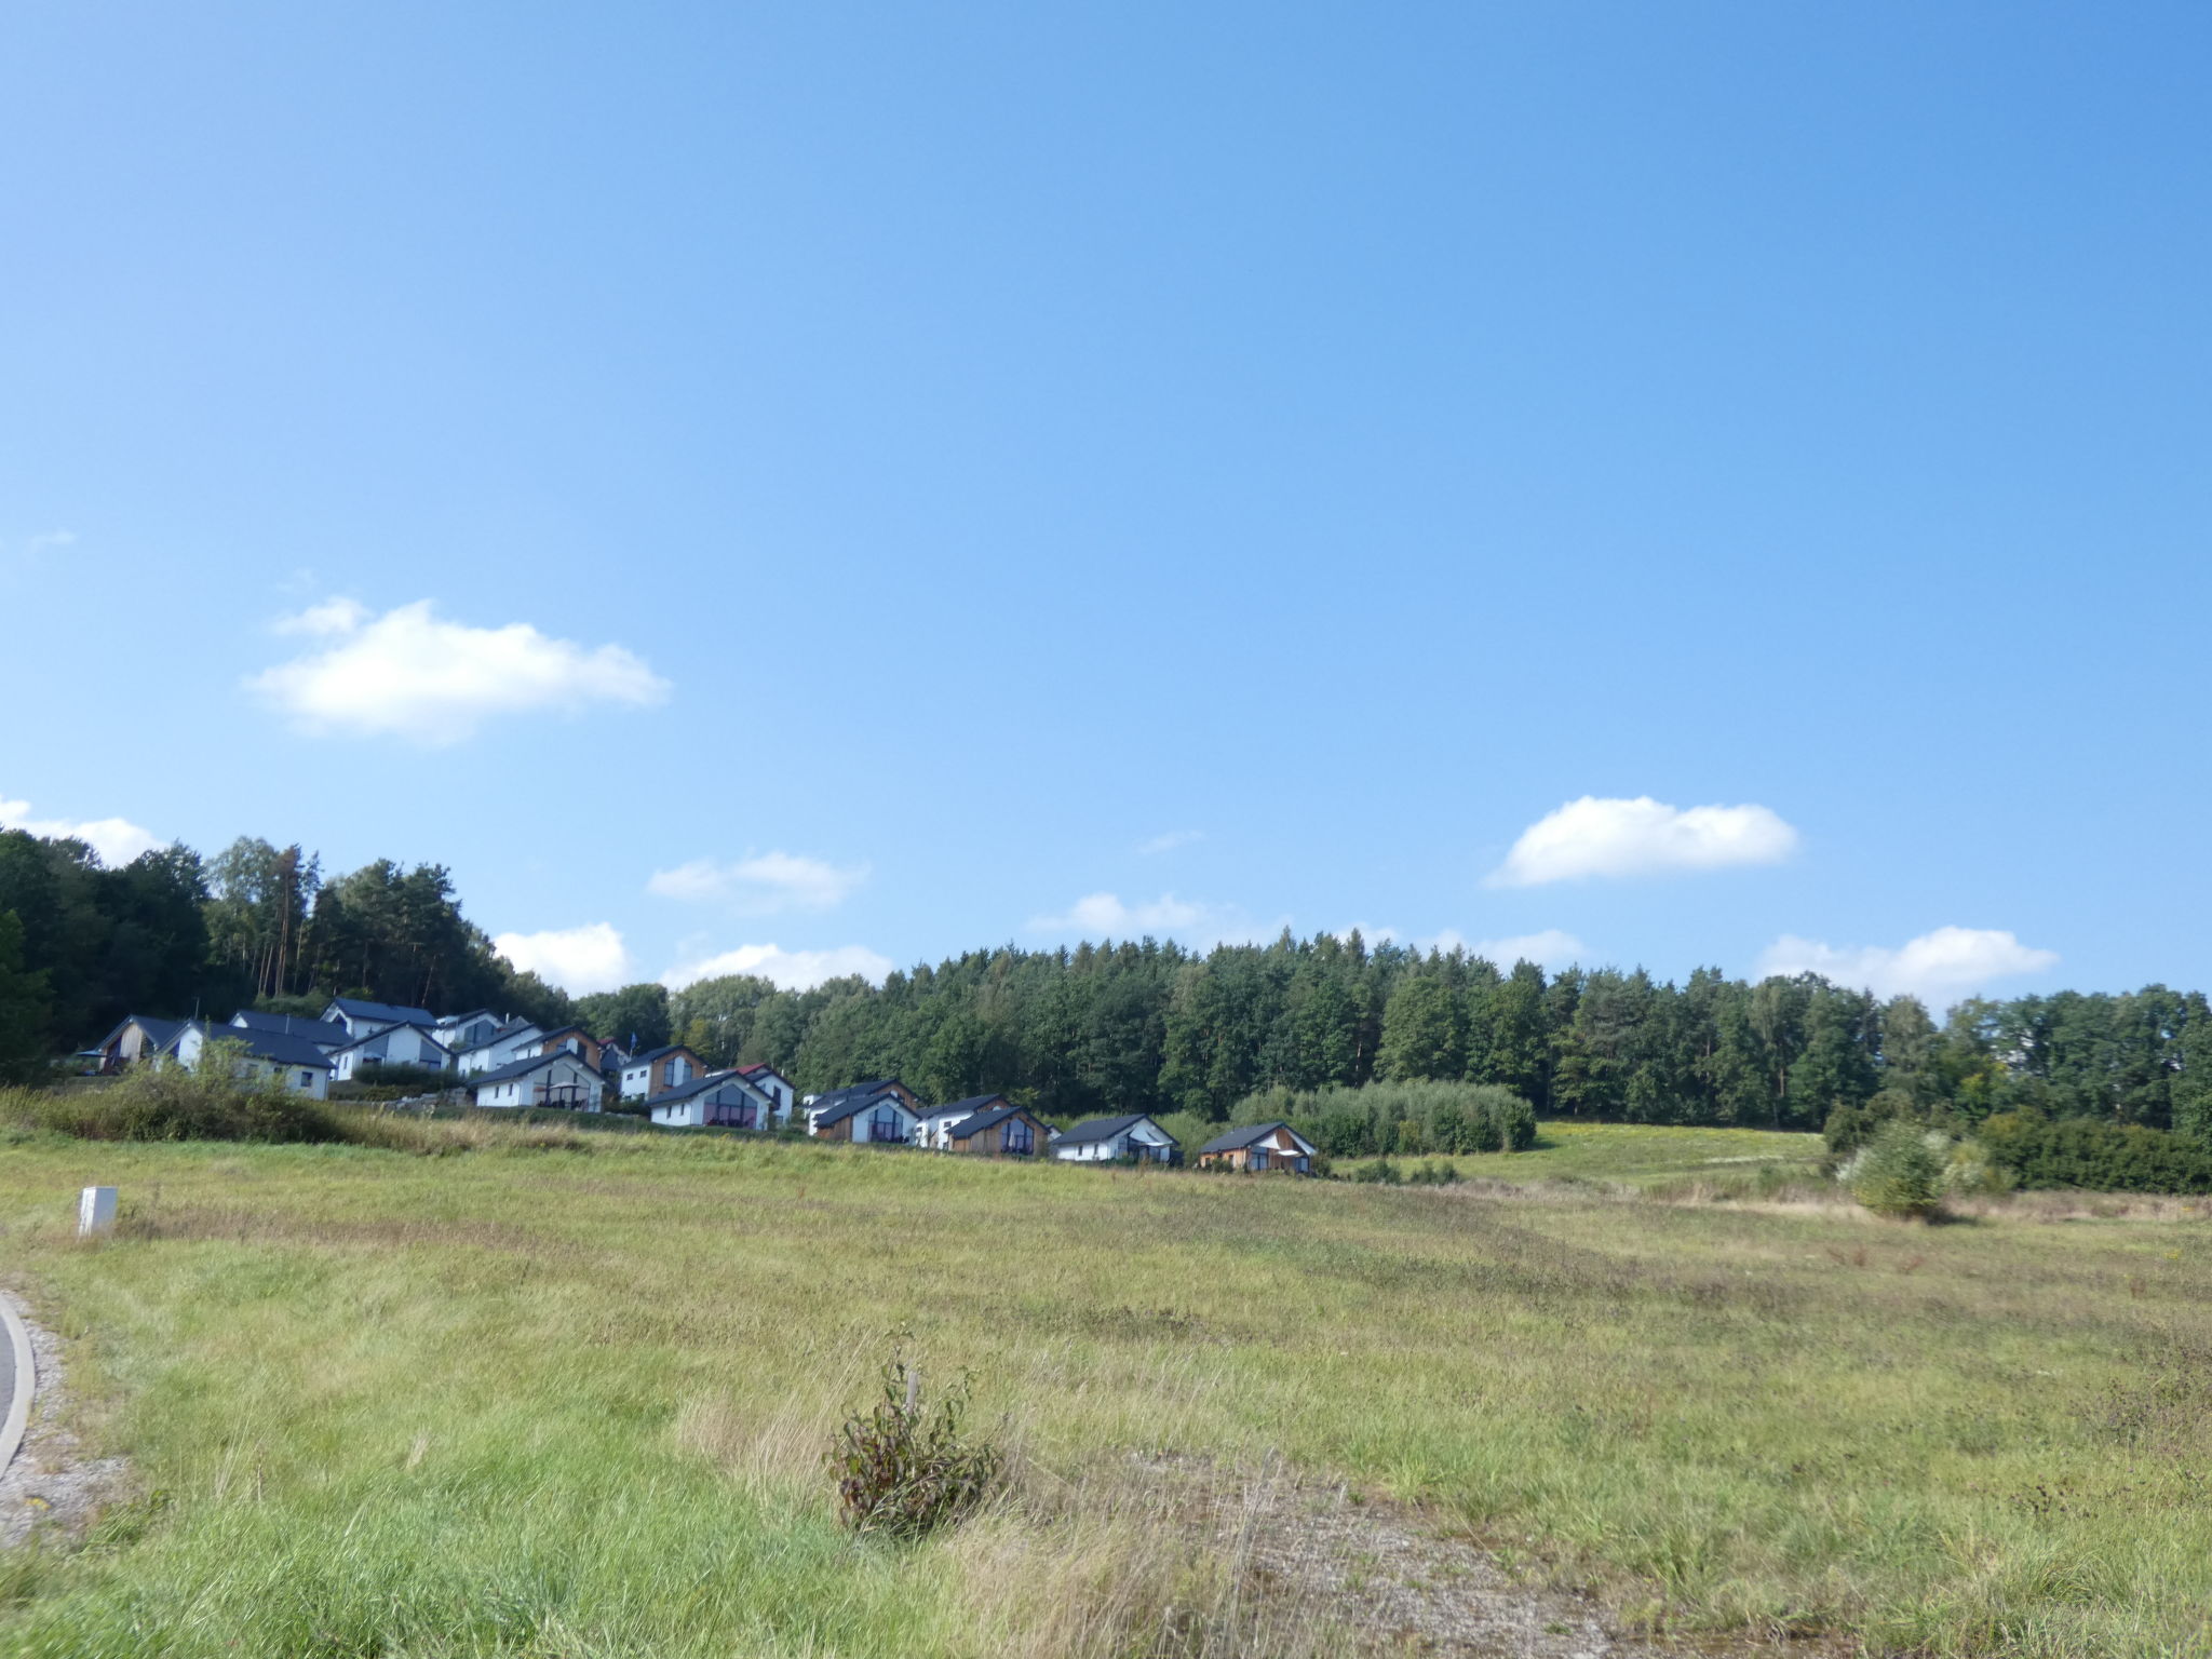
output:
POLYGON ((1593 794, 1522 830, 1489 887, 1537 887, 1584 876, 1655 876, 1674 869, 1772 865, 1798 845, 1798 832, 1759 805, 1670 807, 1593 794))

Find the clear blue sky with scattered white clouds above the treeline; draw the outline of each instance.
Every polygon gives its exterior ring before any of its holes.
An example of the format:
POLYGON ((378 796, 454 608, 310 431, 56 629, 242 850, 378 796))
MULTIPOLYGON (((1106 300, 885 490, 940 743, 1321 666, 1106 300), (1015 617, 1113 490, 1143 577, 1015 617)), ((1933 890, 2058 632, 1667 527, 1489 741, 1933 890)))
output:
POLYGON ((7 33, 0 816, 573 989, 2212 982, 2201 7, 7 33))

